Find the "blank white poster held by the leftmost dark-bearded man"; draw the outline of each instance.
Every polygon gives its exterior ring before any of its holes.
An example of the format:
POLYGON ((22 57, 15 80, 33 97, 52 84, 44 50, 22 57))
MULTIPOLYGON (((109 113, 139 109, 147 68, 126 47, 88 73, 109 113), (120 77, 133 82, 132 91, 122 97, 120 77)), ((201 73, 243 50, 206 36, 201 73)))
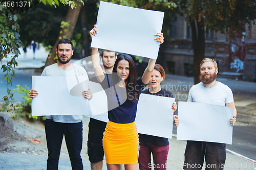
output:
POLYGON ((87 115, 87 76, 32 76, 32 88, 38 95, 32 99, 32 115, 87 115))

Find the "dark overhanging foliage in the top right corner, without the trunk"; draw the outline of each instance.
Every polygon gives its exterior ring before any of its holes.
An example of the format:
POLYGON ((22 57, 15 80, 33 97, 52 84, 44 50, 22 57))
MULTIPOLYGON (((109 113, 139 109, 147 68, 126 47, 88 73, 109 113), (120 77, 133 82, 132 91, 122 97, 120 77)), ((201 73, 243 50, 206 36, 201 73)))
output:
POLYGON ((251 0, 174 0, 180 14, 185 14, 187 20, 204 19, 204 26, 212 31, 232 33, 245 31, 244 24, 256 18, 255 1, 251 0))

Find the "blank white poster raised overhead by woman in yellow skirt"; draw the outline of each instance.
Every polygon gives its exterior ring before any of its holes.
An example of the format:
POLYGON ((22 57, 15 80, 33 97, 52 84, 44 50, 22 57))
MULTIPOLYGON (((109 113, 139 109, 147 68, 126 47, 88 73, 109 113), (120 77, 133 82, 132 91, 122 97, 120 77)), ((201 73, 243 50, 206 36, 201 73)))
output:
POLYGON ((100 2, 91 47, 157 59, 164 12, 100 2))

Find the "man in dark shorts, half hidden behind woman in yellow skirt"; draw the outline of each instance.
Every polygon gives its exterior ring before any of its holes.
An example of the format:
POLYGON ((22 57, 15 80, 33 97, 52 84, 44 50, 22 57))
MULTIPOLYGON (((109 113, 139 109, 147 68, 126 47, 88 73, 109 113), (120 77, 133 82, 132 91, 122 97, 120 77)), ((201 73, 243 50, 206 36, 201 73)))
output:
MULTIPOLYGON (((104 74, 111 79, 112 71, 117 58, 116 52, 109 50, 101 51, 101 60, 104 66, 104 74)), ((98 83, 98 80, 93 74, 90 81, 98 83)), ((89 132, 88 132, 88 156, 91 162, 91 169, 102 169, 104 151, 102 146, 103 132, 105 131, 106 123, 94 118, 90 118, 89 132)))

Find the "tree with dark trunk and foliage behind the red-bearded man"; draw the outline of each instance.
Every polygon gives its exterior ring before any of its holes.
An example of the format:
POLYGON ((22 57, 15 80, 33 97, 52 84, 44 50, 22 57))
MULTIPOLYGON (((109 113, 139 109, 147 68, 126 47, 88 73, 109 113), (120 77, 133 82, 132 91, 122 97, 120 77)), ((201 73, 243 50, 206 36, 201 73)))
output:
POLYGON ((190 22, 194 47, 194 83, 200 82, 199 64, 205 58, 205 28, 230 34, 245 31, 245 23, 256 19, 251 0, 174 0, 179 13, 190 22))

